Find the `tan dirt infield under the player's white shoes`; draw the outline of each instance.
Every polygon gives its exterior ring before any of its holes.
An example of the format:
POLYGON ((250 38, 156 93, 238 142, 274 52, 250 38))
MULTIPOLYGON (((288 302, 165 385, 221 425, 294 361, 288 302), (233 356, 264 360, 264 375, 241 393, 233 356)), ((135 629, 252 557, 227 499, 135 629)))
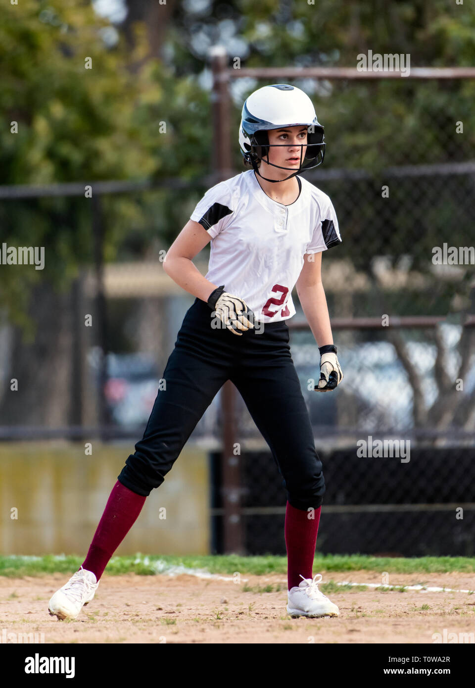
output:
MULTIPOLYGON (((104 575, 78 619, 59 622, 47 605, 67 578, 0 578, 0 642, 10 633, 42 633, 45 643, 432 644, 432 634, 444 630, 446 636, 475 633, 475 594, 467 592, 338 588, 325 593, 339 606, 338 618, 291 619, 281 574, 246 574, 237 584, 190 575, 104 575)), ((382 584, 381 574, 368 571, 323 574, 330 581, 382 584)), ((459 573, 391 574, 385 582, 475 588, 473 574, 459 573)))

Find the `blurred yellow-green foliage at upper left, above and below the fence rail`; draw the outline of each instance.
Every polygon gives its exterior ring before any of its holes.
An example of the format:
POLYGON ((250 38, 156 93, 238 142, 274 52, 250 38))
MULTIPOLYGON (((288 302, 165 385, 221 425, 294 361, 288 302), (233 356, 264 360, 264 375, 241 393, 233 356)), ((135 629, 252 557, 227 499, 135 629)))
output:
MULTIPOLYGON (((135 68, 147 50, 143 25, 135 28, 132 52, 122 38, 107 47, 101 38, 107 25, 89 3, 75 0, 1 6, 0 184, 81 182, 94 193, 98 180, 179 175, 184 167, 188 175, 199 172, 208 118, 201 89, 190 75, 177 81, 157 60, 135 68)), ((173 200, 164 193, 104 197, 107 259, 115 259, 144 217, 157 220, 141 246, 152 233, 166 234, 166 217, 173 215, 166 204, 176 214, 176 194, 173 200)), ((45 248, 43 271, 0 270, 0 308, 8 307, 17 322, 34 283, 48 279, 66 290, 78 266, 93 263, 91 199, 84 194, 3 200, 0 228, 7 246, 45 248)))

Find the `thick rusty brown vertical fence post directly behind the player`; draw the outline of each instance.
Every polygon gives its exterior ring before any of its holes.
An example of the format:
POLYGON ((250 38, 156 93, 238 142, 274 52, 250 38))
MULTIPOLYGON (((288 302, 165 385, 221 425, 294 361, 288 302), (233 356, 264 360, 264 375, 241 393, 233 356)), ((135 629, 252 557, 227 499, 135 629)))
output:
MULTIPOLYGON (((210 50, 213 89, 213 165, 219 179, 230 176, 230 94, 228 56, 222 45, 210 50)), ((234 402, 236 388, 228 380, 222 389, 223 400, 223 451, 221 453, 221 495, 223 499, 223 549, 225 554, 244 554, 243 519, 241 514, 241 461, 234 453, 236 427, 234 423, 234 402)))

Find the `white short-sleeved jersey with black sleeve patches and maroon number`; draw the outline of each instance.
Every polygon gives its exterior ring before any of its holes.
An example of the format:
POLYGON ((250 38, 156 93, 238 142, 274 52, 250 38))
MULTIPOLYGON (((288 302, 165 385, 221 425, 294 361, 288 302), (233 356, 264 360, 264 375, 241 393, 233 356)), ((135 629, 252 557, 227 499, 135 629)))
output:
POLYGON ((342 241, 327 194, 297 180, 298 199, 285 206, 263 191, 254 170, 241 172, 208 189, 190 216, 212 237, 206 279, 224 284, 264 323, 295 315, 291 292, 305 253, 342 241))

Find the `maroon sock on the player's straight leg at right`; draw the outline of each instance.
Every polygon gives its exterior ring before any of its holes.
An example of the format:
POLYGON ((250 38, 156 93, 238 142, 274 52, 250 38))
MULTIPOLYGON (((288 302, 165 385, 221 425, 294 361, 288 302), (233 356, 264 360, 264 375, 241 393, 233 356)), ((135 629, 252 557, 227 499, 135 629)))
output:
POLYGON ((302 583, 300 574, 304 578, 312 577, 321 508, 319 506, 315 509, 313 518, 309 518, 310 511, 296 509, 287 502, 285 546, 287 547, 287 588, 289 590, 302 583))

